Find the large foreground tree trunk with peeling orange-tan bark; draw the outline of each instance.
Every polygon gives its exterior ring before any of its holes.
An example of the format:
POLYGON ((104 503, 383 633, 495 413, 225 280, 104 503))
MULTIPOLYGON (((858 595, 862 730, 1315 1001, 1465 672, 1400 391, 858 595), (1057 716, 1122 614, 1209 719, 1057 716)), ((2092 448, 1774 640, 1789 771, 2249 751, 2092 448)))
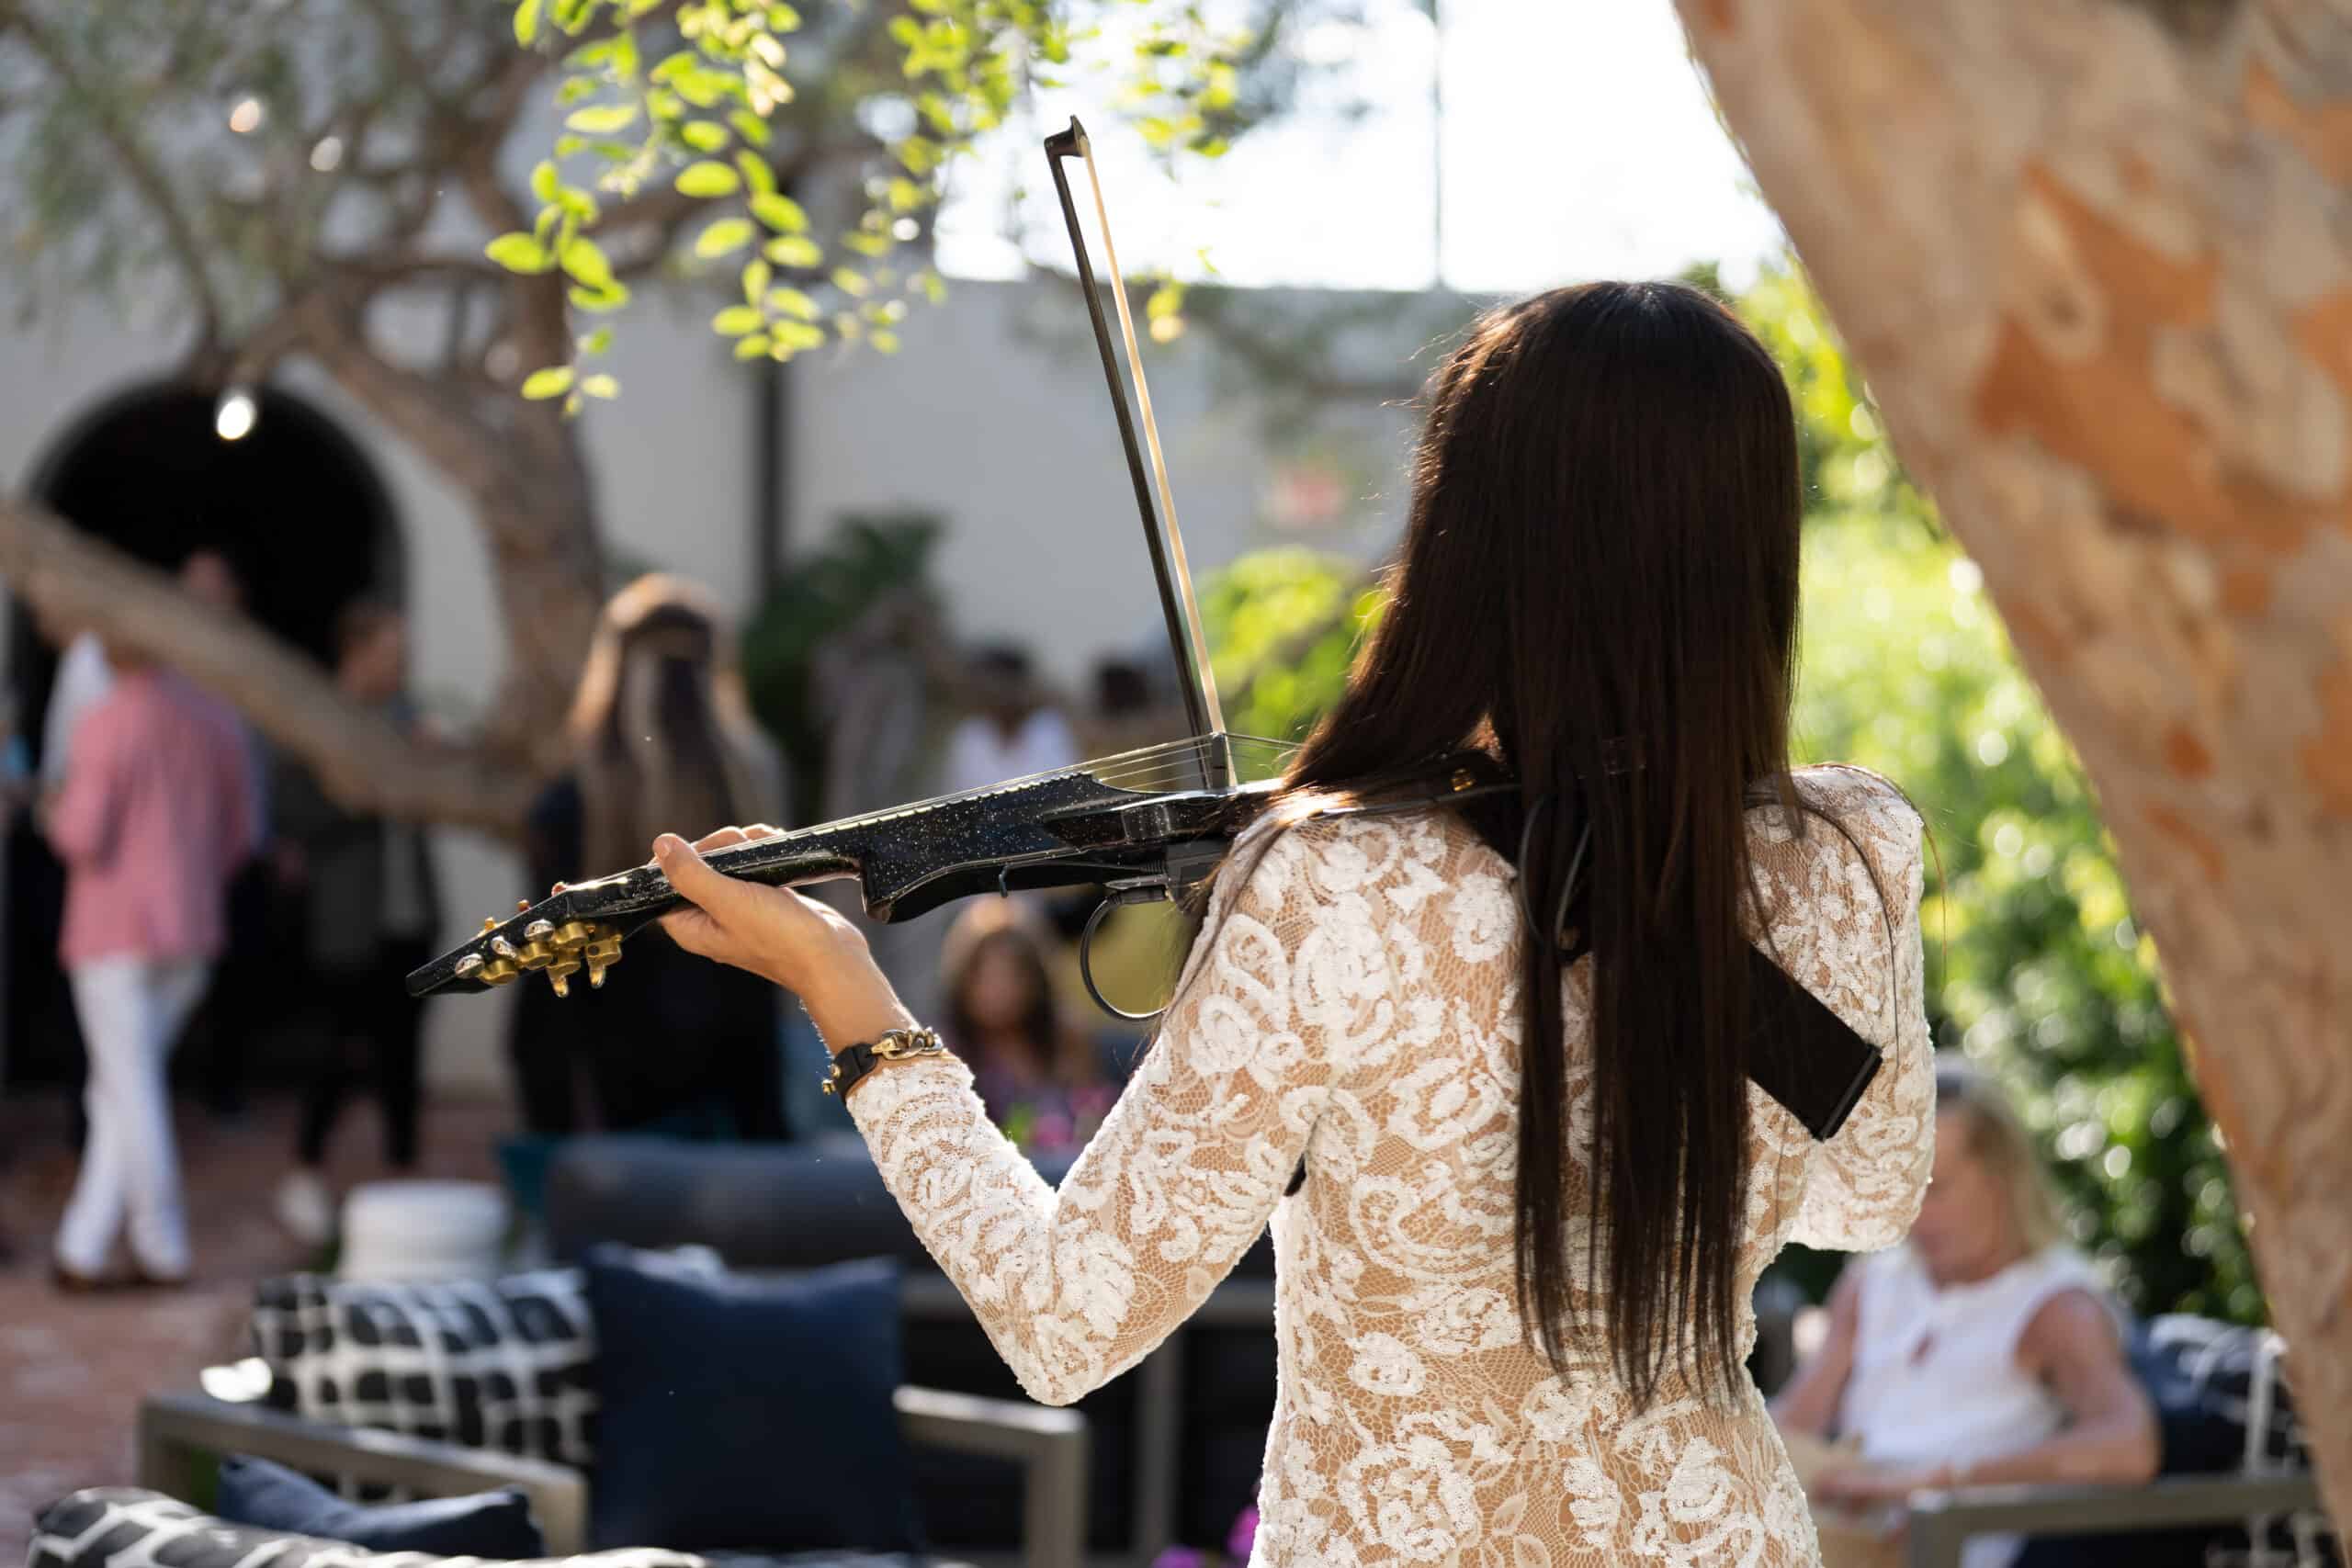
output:
POLYGON ((2098 785, 2352 1519, 2352 12, 1677 2, 2098 785))

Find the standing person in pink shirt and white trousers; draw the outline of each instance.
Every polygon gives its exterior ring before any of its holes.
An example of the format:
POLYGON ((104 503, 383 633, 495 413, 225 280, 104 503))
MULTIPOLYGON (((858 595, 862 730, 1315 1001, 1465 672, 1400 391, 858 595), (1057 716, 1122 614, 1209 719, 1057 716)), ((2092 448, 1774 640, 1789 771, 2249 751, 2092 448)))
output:
POLYGON ((113 689, 75 729, 47 809, 66 863, 59 957, 89 1051, 89 1140, 54 1253, 66 1288, 101 1284, 118 1237, 132 1279, 188 1276, 165 1058, 221 954, 228 879, 256 832, 235 712, 132 649, 106 656, 113 689))

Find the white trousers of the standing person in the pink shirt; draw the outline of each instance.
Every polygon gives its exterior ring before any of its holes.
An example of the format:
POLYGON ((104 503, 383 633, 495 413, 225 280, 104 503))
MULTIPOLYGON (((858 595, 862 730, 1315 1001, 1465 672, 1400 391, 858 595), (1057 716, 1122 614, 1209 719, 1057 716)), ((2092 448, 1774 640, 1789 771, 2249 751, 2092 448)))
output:
POLYGON ((143 1272, 188 1272, 188 1215, 162 1067, 209 976, 202 959, 139 957, 94 959, 66 976, 89 1051, 82 1095, 89 1140, 56 1227, 56 1260, 75 1274, 106 1272, 125 1222, 143 1272))

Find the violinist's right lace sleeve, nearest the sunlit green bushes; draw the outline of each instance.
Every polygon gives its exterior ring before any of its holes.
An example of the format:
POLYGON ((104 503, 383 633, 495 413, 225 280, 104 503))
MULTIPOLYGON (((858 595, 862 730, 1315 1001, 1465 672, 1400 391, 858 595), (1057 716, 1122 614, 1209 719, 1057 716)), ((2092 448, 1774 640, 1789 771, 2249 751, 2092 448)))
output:
POLYGON ((1919 816, 1893 785, 1860 769, 1823 769, 1809 783, 1835 820, 1809 823, 1795 858, 1802 886, 1780 889, 1780 910, 1804 931, 1780 926, 1776 936, 1811 950, 1811 973, 1792 973, 1886 1063, 1837 1135, 1813 1152, 1790 1241, 1867 1253, 1903 1239, 1936 1164, 1919 816))

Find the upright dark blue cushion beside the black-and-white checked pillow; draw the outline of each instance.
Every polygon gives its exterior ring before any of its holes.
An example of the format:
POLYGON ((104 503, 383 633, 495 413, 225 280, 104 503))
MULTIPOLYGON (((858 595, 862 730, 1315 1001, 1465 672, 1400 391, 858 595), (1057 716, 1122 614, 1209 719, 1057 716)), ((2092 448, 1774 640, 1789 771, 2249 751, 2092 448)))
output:
POLYGON ((590 1547, 915 1552, 898 1265, 790 1279, 588 1251, 590 1547))

